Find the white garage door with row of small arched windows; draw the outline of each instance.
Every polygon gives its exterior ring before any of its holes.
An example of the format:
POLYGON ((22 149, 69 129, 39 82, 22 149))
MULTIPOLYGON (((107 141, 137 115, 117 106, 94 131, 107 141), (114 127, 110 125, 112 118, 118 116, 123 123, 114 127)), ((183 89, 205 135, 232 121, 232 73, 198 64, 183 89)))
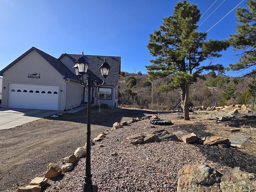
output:
POLYGON ((9 108, 58 110, 58 86, 10 84, 9 108))

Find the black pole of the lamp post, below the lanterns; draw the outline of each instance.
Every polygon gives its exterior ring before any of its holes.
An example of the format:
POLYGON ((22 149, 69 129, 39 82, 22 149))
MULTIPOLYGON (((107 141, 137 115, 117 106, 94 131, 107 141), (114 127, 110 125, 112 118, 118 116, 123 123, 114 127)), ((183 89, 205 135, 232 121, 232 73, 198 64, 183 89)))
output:
POLYGON ((86 166, 84 175, 83 192, 92 192, 92 174, 91 174, 91 79, 88 80, 88 98, 87 98, 87 141, 86 141, 86 166))

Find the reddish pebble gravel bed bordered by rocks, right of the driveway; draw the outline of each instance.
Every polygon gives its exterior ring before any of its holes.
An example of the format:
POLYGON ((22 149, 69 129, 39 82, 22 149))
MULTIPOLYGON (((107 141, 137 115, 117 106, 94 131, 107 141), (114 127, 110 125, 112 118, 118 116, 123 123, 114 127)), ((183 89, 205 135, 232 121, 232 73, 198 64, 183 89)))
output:
MULTIPOLYGON (((173 115, 158 117, 174 119, 173 115)), ((129 126, 108 132, 106 138, 92 146, 92 182, 97 183, 99 192, 174 192, 177 188, 178 170, 185 165, 206 163, 217 170, 229 169, 209 161, 202 153, 204 146, 198 147, 176 141, 137 146, 128 143, 126 137, 133 134, 152 133, 162 129, 172 133, 178 130, 173 126, 155 126, 156 128, 150 126, 150 120, 134 122, 129 126)), ((44 191, 82 192, 84 173, 85 158, 82 158, 74 170, 55 180, 49 180, 44 191)))

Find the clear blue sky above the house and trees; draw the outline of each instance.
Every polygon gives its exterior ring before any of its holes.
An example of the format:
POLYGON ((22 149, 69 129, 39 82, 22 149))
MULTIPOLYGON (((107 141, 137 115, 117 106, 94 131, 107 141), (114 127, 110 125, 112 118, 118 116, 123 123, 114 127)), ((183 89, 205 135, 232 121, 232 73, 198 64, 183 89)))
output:
MULTIPOLYGON (((202 15, 205 13, 198 23, 202 24, 198 28, 201 32, 208 31, 240 2, 240 7, 247 7, 247 0, 188 1, 197 4, 202 15)), ((164 17, 173 14, 177 2, 0 0, 0 70, 34 46, 55 58, 62 53, 82 54, 82 51, 88 55, 121 56, 121 71, 146 74, 145 66, 152 59, 146 48, 149 34, 159 29, 164 17)), ((235 11, 208 31, 208 39, 221 40, 236 32, 235 11)), ((237 61, 232 47, 222 54, 222 58, 214 60, 215 64, 228 66, 237 61)))

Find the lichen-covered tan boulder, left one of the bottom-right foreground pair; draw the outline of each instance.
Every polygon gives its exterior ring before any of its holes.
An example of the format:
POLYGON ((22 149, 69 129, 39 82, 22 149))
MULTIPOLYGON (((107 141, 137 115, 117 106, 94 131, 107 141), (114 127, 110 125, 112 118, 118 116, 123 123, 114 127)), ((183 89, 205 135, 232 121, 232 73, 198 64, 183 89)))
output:
POLYGON ((187 165, 178 172, 177 192, 220 192, 221 174, 206 164, 187 165))

